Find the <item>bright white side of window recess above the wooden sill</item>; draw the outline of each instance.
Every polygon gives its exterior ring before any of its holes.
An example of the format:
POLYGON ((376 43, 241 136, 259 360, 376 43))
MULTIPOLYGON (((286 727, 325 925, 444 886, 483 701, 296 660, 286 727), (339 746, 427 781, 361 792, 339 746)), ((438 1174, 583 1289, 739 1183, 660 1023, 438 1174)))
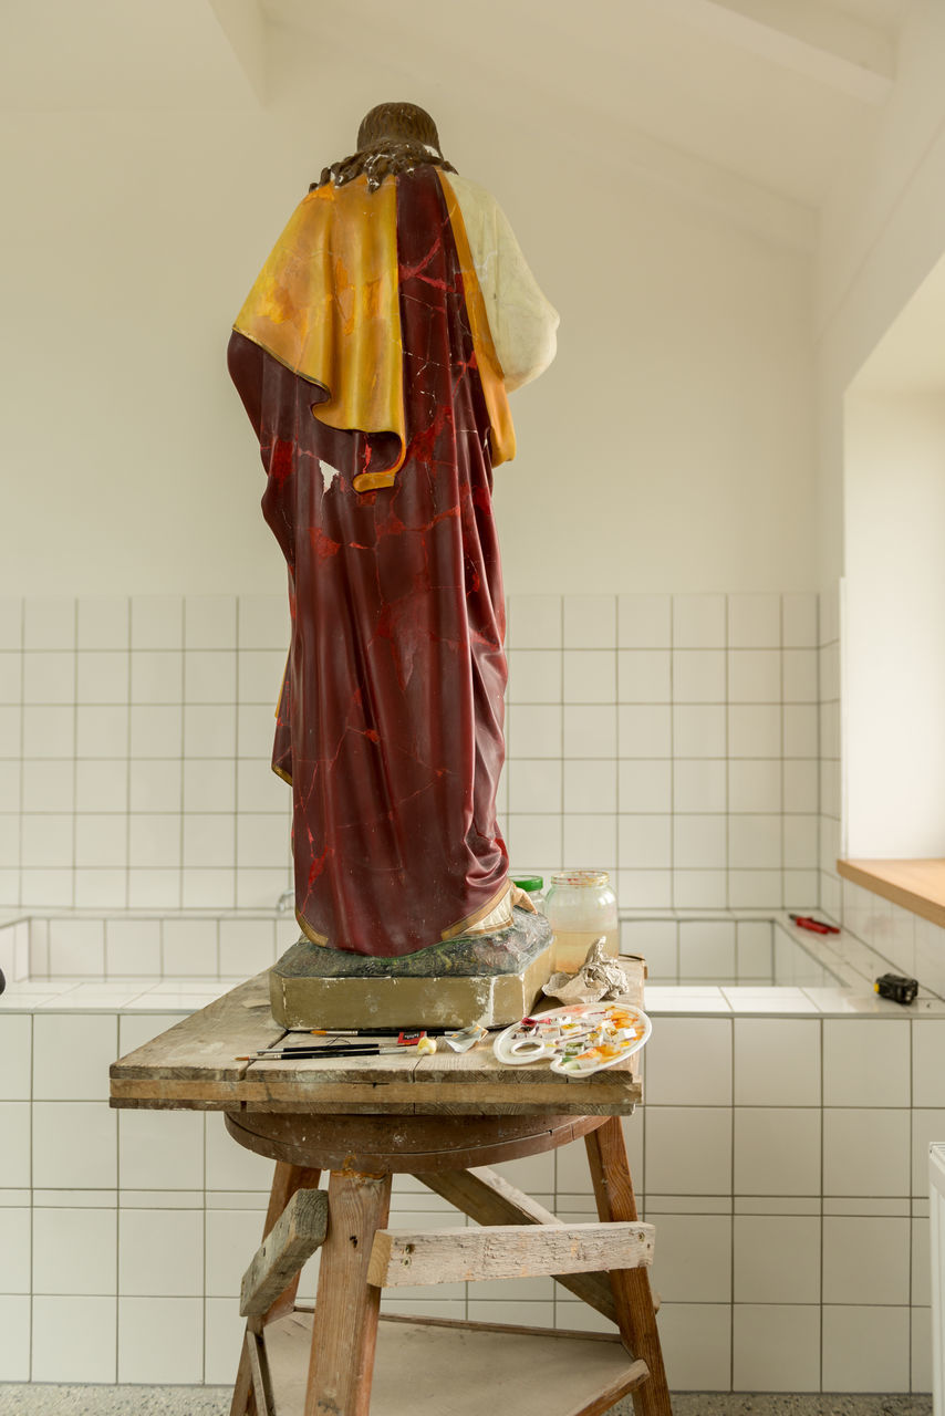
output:
POLYGON ((846 409, 846 835, 945 855, 945 389, 846 409))

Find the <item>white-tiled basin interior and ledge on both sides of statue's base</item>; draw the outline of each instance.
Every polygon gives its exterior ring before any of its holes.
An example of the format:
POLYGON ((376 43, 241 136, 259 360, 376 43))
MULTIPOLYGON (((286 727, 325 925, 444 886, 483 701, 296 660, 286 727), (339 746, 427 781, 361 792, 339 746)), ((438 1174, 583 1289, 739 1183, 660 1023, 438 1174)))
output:
MULTIPOLYGON (((945 932, 929 925, 922 944, 915 944, 919 932, 910 932, 912 916, 898 913, 904 918, 894 929, 888 927, 893 916, 883 915, 885 923, 877 925, 874 943, 867 943, 850 929, 812 936, 783 913, 625 912, 621 949, 646 957, 650 990, 676 988, 677 1004, 684 990, 704 1011, 710 1001, 713 1011, 728 1005, 744 1011, 738 1003, 744 997, 757 1011, 796 1011, 798 1005, 810 1011, 813 1005, 823 1012, 867 1008, 883 1014, 887 1004, 876 998, 873 980, 888 969, 911 971, 912 964, 921 964, 918 1007, 945 1008, 945 969, 938 957, 945 954, 945 939, 932 937, 945 932), (764 1008, 762 994, 771 994, 764 1008)), ((275 910, 20 918, 10 912, 6 920, 0 916, 0 969, 10 983, 11 1005, 24 991, 55 983, 74 990, 69 1007, 95 1007, 95 1000, 111 1005, 119 994, 140 1007, 154 987, 186 994, 193 978, 231 984, 268 969, 298 935, 290 912, 275 910)), ((58 1007, 62 988, 50 993, 58 1007)))

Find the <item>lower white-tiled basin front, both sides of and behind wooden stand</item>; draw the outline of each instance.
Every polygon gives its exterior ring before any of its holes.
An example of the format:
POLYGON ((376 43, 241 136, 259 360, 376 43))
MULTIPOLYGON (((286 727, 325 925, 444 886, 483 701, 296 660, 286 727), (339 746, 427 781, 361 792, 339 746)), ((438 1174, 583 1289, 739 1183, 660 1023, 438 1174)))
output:
MULTIPOLYGON (((0 1381, 232 1381, 271 1164, 220 1116, 105 1099, 105 1061, 174 1021, 0 1012, 4 1059, 31 1059, 0 1066, 0 1381), (82 1066, 57 1065, 79 1049, 82 1066)), ((647 1102, 625 1129, 674 1389, 928 1389, 944 1059, 941 1018, 657 1017, 647 1102)), ((592 1214, 579 1143, 500 1170, 562 1219, 592 1214)), ((394 1228, 453 1222, 419 1181, 397 1181, 394 1228)), ((602 1325, 545 1279, 401 1290, 388 1306, 602 1325)))

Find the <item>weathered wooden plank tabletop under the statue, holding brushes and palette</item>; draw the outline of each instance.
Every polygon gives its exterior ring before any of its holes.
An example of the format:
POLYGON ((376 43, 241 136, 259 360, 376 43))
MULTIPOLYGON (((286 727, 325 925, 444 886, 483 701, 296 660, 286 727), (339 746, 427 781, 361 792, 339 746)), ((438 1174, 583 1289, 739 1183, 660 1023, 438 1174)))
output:
MULTIPOLYGON (((621 960, 625 1001, 643 997, 642 961, 621 960)), ((555 1001, 548 1000, 548 1007, 555 1001)), ((269 1011, 269 974, 247 980, 207 1008, 112 1065, 115 1107, 198 1112, 626 1116, 642 1099, 639 1054, 589 1078, 565 1078, 547 1062, 497 1062, 492 1038, 456 1054, 383 1054, 310 1061, 238 1062, 238 1055, 300 1045, 269 1011)), ((378 1039, 387 1041, 391 1039, 378 1039)))

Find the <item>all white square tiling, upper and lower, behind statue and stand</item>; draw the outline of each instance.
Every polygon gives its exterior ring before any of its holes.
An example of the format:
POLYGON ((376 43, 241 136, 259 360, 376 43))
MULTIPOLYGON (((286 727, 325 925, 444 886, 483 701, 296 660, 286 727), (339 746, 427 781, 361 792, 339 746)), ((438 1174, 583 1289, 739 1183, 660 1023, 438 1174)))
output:
MULTIPOLYGON (((106 991, 119 976, 130 997, 135 977, 255 971, 295 936, 290 919, 261 912, 288 885, 288 792, 268 770, 285 609, 279 598, 28 602, 0 626, 0 903, 252 906, 242 919, 11 930, 13 977, 102 983, 85 986, 92 1017, 0 1014, 0 1321, 14 1335, 0 1381, 227 1383, 271 1167, 220 1117, 108 1109, 102 1059, 173 1014, 119 1018, 106 991), (81 1066, 48 1065, 51 1031, 81 1066), (69 1262, 54 1262, 64 1249, 69 1262)), ((819 605, 513 598, 500 804, 516 867, 594 860, 616 872, 621 905, 646 912, 820 902, 843 918, 834 947, 864 977, 877 950, 945 994, 945 932, 836 877, 839 633, 833 590, 819 605)), ((691 976, 689 925, 625 929, 646 929, 640 947, 670 980, 691 976)), ((734 952, 735 977, 752 977, 752 960, 766 974, 769 922, 701 922, 703 963, 711 927, 718 963, 734 952)), ((160 987, 174 1007, 171 981, 160 987)), ((927 1391, 925 1154, 945 1136, 945 1022, 822 1017, 816 990, 779 994, 775 1011, 792 994, 798 1017, 761 1017, 775 1008, 764 988, 725 990, 718 1015, 696 990, 680 994, 646 1049, 647 1104, 626 1134, 656 1225, 670 1383, 927 1391), (864 1252, 881 1262, 864 1267, 864 1252)), ((592 1211, 581 1146, 507 1172, 561 1218, 592 1211)), ((398 1184, 394 1211, 449 1222, 415 1181, 398 1184)), ((547 1280, 404 1293, 397 1306, 596 1321, 547 1280)))

